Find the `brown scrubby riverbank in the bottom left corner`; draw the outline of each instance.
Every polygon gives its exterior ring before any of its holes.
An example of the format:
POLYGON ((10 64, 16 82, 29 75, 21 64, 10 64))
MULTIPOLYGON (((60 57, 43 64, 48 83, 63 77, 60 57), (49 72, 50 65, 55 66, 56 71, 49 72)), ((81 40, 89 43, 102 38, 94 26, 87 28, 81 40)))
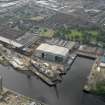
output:
MULTIPOLYGON (((3 88, 0 92, 0 105, 35 105, 42 104, 35 99, 21 95, 15 91, 3 88)), ((43 103, 43 105, 46 105, 43 103)))

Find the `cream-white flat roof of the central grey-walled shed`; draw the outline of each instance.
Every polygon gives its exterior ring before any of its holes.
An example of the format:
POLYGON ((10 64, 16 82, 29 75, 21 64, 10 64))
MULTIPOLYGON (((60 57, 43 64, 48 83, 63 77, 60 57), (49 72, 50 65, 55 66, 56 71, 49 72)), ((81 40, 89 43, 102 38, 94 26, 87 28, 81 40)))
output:
POLYGON ((43 52, 49 52, 49 53, 57 54, 61 56, 66 56, 69 52, 69 50, 65 47, 50 45, 47 43, 42 43, 36 50, 43 51, 43 52))

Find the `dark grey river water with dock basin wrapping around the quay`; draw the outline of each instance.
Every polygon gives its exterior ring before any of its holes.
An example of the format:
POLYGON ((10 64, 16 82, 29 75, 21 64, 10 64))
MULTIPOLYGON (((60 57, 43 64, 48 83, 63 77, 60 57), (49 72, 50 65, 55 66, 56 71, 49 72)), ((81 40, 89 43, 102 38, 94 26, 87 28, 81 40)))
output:
POLYGON ((0 73, 5 87, 41 99, 49 105, 105 105, 97 97, 82 92, 92 64, 92 60, 78 57, 56 88, 49 87, 37 77, 28 79, 26 75, 11 68, 0 66, 0 73))

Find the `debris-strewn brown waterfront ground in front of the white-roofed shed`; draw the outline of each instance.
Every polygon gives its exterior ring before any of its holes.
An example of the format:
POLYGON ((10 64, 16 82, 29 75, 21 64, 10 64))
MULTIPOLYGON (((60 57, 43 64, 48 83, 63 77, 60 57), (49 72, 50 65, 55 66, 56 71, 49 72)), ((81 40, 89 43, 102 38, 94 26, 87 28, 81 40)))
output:
MULTIPOLYGON (((62 75, 67 73, 64 67, 65 64, 42 61, 38 58, 34 60, 29 56, 15 51, 15 49, 6 48, 3 45, 1 45, 0 48, 1 58, 3 58, 1 62, 8 62, 8 66, 10 65, 20 72, 32 72, 49 86, 55 86, 58 82, 61 82, 62 75)), ((76 55, 72 55, 66 67, 70 68, 75 59, 76 55)))

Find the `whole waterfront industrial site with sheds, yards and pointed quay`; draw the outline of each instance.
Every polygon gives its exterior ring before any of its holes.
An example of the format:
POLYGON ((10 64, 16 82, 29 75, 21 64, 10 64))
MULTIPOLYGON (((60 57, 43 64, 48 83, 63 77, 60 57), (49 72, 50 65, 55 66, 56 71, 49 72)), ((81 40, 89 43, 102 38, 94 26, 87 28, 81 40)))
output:
POLYGON ((49 85, 61 81, 76 58, 72 51, 77 43, 72 41, 45 39, 32 33, 23 35, 11 29, 2 29, 0 35, 1 60, 17 70, 32 71, 49 85))

